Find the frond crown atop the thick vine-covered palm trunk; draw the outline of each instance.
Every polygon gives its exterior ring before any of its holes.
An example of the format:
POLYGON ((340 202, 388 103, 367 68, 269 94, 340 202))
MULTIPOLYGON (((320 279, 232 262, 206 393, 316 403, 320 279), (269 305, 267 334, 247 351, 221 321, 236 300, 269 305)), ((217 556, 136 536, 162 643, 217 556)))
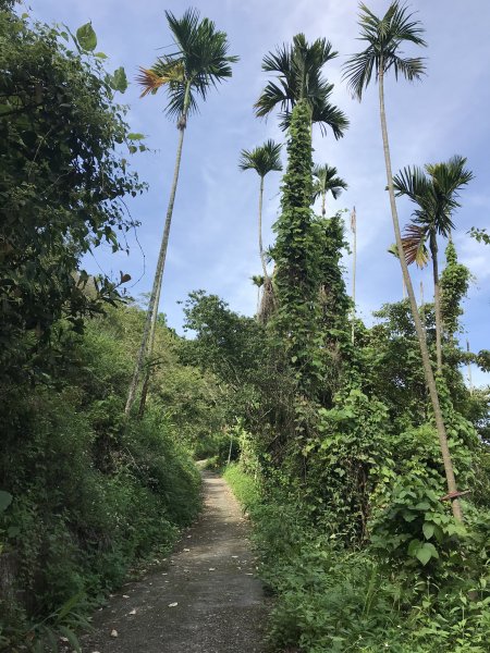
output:
POLYGON ((333 84, 322 78, 323 65, 338 57, 332 45, 317 38, 311 45, 304 34, 293 37, 293 45, 283 45, 264 58, 262 70, 278 73, 278 79, 269 82, 257 100, 256 115, 265 118, 278 106, 281 109, 281 128, 287 130, 293 107, 306 99, 311 109, 311 122, 318 123, 322 134, 330 127, 335 138, 341 138, 348 126, 343 111, 330 102, 333 84))

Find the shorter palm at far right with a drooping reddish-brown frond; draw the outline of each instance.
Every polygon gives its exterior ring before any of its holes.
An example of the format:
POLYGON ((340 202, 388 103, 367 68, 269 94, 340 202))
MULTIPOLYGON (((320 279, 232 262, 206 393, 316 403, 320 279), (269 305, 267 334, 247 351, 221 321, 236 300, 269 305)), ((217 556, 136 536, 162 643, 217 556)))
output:
POLYGON ((402 238, 406 262, 411 264, 427 251, 429 243, 432 258, 433 304, 436 313, 436 355, 438 371, 442 372, 442 315, 439 288, 438 235, 451 236, 454 229, 452 213, 461 205, 458 192, 473 178, 473 172, 465 168, 466 159, 455 156, 443 163, 420 168, 407 167, 393 177, 396 195, 406 195, 417 205, 413 212, 414 223, 409 224, 402 238), (427 174, 426 174, 427 173, 427 174))

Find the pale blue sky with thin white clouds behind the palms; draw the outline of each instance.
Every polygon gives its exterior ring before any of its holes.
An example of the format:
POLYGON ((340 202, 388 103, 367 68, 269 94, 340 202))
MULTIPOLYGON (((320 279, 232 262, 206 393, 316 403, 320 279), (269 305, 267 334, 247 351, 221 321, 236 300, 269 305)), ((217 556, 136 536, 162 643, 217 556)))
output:
MULTIPOLYGON (((388 0, 370 0, 369 8, 382 15, 388 0)), ((173 213, 160 310, 168 323, 182 333, 181 301, 203 288, 218 294, 233 310, 254 315, 256 287, 253 274, 261 272, 258 256, 257 205, 259 178, 242 172, 237 161, 243 148, 250 149, 268 138, 284 141, 275 115, 267 121, 254 115, 254 102, 269 77, 261 71, 262 57, 303 32, 308 40, 326 37, 339 57, 324 67, 335 87, 332 100, 348 116, 351 126, 335 140, 321 137, 314 127, 314 159, 338 168, 348 190, 328 212, 356 207, 358 315, 372 323, 372 311, 402 295, 399 262, 387 248, 394 241, 379 126, 377 87, 371 85, 363 102, 354 100, 344 82, 342 64, 362 49, 356 0, 195 0, 201 16, 213 20, 229 36, 230 53, 238 54, 233 77, 209 94, 200 112, 188 121, 180 184, 173 213)), ((163 113, 164 95, 139 99, 135 76, 139 65, 150 66, 172 45, 164 10, 176 16, 189 7, 181 0, 32 0, 30 15, 48 23, 68 24, 72 30, 91 21, 98 50, 109 56, 108 67, 123 65, 131 85, 121 99, 128 104, 132 131, 146 135, 150 152, 132 158, 133 170, 148 182, 143 197, 128 201, 130 211, 142 224, 137 241, 131 236, 130 256, 98 249, 86 261, 90 272, 103 270, 119 276, 130 273, 130 293, 137 297, 151 287, 172 181, 177 130, 163 113), (139 247, 140 245, 140 247, 139 247), (143 251, 142 251, 143 250, 143 251), (135 283, 136 282, 136 283, 135 283)), ((462 193, 462 208, 454 215, 454 242, 460 260, 469 267, 474 281, 465 301, 462 343, 473 350, 489 348, 490 247, 467 235, 471 226, 490 225, 490 3, 488 0, 413 0, 411 10, 425 26, 428 47, 406 54, 426 58, 427 74, 420 82, 387 81, 387 115, 393 171, 405 165, 445 161, 453 155, 467 157, 475 180, 462 193)), ((273 242, 272 224, 279 214, 281 176, 266 177, 264 201, 265 245, 273 242)), ((412 207, 399 202, 403 224, 412 207)), ((350 234, 348 234, 350 235, 350 234)), ((351 235, 350 235, 351 237, 351 235)), ((344 258, 351 287, 352 260, 344 258)), ((424 283, 424 295, 432 294, 430 269, 414 271, 414 285, 424 283)), ((490 374, 473 368, 476 384, 490 382, 490 374)))

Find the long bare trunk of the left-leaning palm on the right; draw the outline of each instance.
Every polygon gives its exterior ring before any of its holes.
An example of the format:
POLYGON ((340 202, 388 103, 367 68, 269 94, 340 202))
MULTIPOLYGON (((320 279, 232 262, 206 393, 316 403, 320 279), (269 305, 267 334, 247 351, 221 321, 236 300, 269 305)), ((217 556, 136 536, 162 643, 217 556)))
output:
MULTIPOLYGON (((391 156, 390 156, 390 145, 388 140, 388 127, 387 127, 387 114, 384 110, 384 86, 383 86, 383 61, 380 62, 379 69, 379 111, 380 111, 380 120, 381 120, 381 134, 383 139, 383 150, 384 150, 384 163, 387 168, 387 182, 388 182, 388 192, 390 195, 390 207, 391 207, 391 217, 393 220, 393 230, 396 238, 396 247, 399 249, 400 256, 400 264, 402 266, 403 279, 405 280, 405 286, 408 294, 408 299, 412 308, 412 316, 415 323, 415 330, 417 332, 418 342, 420 345, 420 354, 424 365, 424 372, 426 377, 426 383, 429 389, 430 399, 432 404, 432 410, 436 419, 436 427, 439 436, 439 445, 441 448, 442 460, 444 464, 445 479, 448 483, 448 491, 450 494, 457 493, 456 479, 454 478, 454 469, 453 463, 451 459, 451 454, 448 446, 448 435, 445 432, 444 420, 442 418, 441 405, 439 403, 439 394, 436 386, 436 380, 432 371, 432 367, 430 365, 429 350, 427 348, 427 341, 424 333, 424 328, 421 324, 420 316, 417 309, 417 301, 415 299, 414 286, 412 285, 412 279, 408 273, 408 267, 406 264, 405 255, 403 251, 402 244, 402 234, 400 232, 400 221, 399 214, 396 211, 396 201, 394 195, 393 187, 393 173, 391 169, 391 156)), ((451 500, 451 507, 453 510, 454 518, 458 521, 463 520, 463 512, 461 509, 461 503, 457 496, 451 500)))

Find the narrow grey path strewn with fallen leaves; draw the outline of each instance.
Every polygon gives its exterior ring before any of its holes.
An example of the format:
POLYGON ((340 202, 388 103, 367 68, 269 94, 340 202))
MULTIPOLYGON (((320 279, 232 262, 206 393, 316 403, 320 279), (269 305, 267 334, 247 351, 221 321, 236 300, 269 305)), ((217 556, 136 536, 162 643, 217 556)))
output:
POLYGON ((96 613, 84 653, 264 651, 266 608, 248 525, 223 479, 205 471, 204 490, 203 516, 181 549, 96 613))

